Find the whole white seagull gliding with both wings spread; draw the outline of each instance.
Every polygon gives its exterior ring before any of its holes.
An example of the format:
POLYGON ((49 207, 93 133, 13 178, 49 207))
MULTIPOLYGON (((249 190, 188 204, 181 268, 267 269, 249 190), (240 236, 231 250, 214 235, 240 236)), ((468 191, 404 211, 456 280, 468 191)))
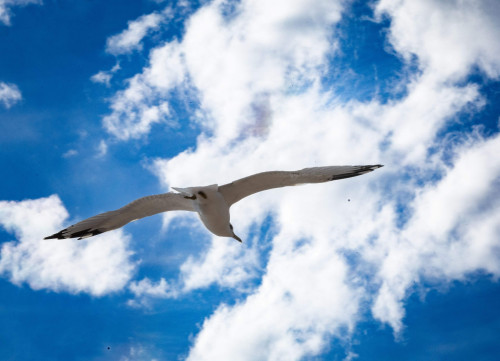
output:
POLYGON ((239 200, 273 188, 356 177, 380 167, 383 165, 313 167, 290 172, 257 173, 222 186, 212 184, 202 187, 172 187, 176 192, 139 198, 120 209, 84 219, 44 239, 84 239, 157 213, 191 211, 198 213, 205 227, 213 234, 242 242, 234 233, 229 214, 229 208, 239 200))

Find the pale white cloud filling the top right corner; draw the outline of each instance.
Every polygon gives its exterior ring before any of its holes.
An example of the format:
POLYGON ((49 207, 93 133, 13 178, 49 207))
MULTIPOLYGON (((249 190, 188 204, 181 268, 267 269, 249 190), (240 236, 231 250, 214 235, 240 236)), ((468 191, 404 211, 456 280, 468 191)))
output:
POLYGON ((465 76, 474 65, 500 76, 500 3, 496 0, 381 0, 391 18, 390 40, 409 59, 441 79, 465 76))

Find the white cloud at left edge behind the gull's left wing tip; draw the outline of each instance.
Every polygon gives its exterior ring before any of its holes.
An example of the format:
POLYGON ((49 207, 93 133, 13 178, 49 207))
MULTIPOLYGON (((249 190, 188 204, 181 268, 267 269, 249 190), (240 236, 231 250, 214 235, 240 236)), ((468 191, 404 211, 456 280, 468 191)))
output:
POLYGON ((135 265, 122 231, 88 240, 43 239, 63 227, 68 212, 53 195, 35 200, 1 201, 0 224, 17 240, 3 243, 0 274, 32 289, 86 292, 102 296, 122 290, 135 265))

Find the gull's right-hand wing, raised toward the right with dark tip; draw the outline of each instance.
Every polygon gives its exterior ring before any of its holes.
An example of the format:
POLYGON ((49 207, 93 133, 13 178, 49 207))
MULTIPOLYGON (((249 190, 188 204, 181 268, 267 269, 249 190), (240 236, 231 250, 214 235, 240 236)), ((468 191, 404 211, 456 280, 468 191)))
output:
POLYGON ((292 172, 263 172, 251 175, 219 187, 228 206, 251 194, 272 188, 295 186, 304 183, 323 183, 336 179, 355 177, 371 172, 377 165, 354 165, 304 168, 292 172))

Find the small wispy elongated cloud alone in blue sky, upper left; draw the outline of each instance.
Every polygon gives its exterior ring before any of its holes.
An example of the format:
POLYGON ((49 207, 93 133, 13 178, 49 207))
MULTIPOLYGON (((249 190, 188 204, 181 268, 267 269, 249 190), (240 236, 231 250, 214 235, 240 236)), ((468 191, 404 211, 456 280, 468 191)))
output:
POLYGON ((167 8, 161 13, 154 12, 129 21, 127 29, 107 39, 106 51, 113 55, 120 55, 141 50, 144 37, 171 17, 171 10, 167 8))

